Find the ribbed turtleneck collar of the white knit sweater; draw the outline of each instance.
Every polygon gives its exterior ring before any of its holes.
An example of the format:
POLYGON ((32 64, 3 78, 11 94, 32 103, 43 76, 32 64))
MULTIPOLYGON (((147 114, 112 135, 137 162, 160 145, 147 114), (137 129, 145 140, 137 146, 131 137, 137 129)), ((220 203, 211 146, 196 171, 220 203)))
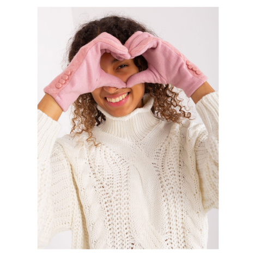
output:
POLYGON ((143 107, 136 108, 124 117, 114 117, 97 105, 97 109, 105 115, 106 121, 103 121, 96 128, 113 136, 129 139, 130 141, 141 140, 161 121, 151 112, 154 98, 149 93, 144 94, 143 103, 143 107))

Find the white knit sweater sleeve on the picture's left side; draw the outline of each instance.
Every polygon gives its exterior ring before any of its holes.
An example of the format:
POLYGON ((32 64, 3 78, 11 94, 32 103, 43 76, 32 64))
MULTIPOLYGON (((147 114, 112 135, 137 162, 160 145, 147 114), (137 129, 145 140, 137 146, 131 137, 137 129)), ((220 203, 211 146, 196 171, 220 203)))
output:
POLYGON ((77 192, 71 165, 56 142, 60 124, 38 110, 38 248, 71 230, 77 192))

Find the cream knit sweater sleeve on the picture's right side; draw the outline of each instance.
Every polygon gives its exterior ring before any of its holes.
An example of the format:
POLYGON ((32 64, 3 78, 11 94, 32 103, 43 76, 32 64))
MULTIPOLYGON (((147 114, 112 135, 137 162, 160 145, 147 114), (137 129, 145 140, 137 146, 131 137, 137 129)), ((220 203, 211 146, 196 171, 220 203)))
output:
POLYGON ((218 92, 205 95, 196 109, 205 125, 197 138, 195 153, 202 203, 207 212, 218 209, 218 92))

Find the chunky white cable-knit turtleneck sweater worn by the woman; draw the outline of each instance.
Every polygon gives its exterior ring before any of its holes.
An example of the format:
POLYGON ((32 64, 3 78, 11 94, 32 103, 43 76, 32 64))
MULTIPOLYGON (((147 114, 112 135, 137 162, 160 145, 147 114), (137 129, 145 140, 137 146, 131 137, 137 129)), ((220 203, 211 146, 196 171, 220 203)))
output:
POLYGON ((72 230, 76 249, 197 249, 218 208, 218 93, 196 109, 204 124, 163 121, 144 107, 88 133, 56 139, 60 124, 38 111, 38 247, 72 230))

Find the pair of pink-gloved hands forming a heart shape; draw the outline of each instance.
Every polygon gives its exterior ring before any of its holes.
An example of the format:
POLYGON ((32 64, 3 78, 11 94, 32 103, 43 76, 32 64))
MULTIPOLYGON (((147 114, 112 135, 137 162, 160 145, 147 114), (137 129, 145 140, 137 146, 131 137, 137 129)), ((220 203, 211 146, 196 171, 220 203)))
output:
POLYGON ((68 68, 45 87, 44 92, 66 111, 79 95, 102 86, 130 88, 144 82, 173 84, 190 97, 205 81, 207 77, 197 66, 167 41, 138 31, 122 45, 117 38, 104 32, 81 47, 68 68), (132 75, 124 83, 101 69, 100 57, 105 52, 118 60, 142 55, 148 62, 148 69, 132 75))

